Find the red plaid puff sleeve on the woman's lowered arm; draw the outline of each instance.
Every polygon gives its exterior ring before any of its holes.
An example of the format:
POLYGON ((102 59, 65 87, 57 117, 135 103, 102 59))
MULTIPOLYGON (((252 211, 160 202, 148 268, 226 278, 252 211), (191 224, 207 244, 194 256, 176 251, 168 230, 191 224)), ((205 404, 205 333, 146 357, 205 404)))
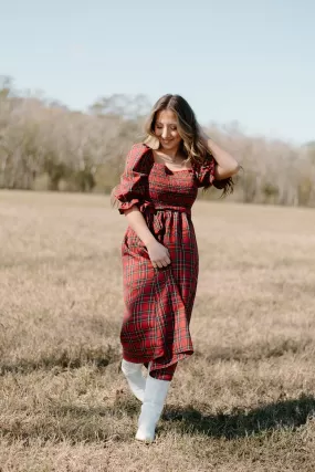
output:
POLYGON ((147 149, 143 144, 136 144, 127 155, 120 182, 114 189, 114 198, 118 200, 118 211, 120 214, 124 214, 134 204, 140 211, 153 204, 148 196, 148 175, 150 168, 146 156, 147 149))

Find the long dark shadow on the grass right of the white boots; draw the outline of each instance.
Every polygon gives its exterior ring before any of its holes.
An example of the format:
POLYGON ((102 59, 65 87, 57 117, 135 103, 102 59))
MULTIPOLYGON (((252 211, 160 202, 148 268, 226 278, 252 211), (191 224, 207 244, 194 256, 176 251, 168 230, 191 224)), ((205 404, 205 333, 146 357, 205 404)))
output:
MULTIPOLYGON (((204 405, 204 409, 209 408, 204 405)), ((202 405, 200 405, 202 410, 202 405)), ((196 432, 211 438, 235 439, 281 429, 296 429, 315 415, 315 398, 302 395, 296 400, 280 400, 251 411, 234 410, 230 415, 202 415, 198 409, 168 407, 166 421, 178 422, 182 432, 196 432)))

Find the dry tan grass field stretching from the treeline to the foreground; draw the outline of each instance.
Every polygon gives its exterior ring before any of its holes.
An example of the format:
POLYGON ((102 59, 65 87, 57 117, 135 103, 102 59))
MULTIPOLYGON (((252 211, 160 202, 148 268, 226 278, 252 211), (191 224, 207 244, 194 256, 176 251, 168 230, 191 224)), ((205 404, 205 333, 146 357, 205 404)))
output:
POLYGON ((195 355, 157 440, 118 371, 108 198, 0 192, 0 471, 315 470, 315 210, 198 201, 195 355))

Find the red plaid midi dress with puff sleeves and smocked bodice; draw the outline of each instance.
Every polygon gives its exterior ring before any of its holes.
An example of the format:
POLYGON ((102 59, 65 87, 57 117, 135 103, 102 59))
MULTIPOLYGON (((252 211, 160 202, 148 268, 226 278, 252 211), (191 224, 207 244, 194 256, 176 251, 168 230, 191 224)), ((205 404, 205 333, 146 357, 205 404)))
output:
POLYGON ((119 212, 136 204, 170 254, 167 268, 155 269, 143 241, 127 228, 122 244, 126 306, 120 331, 123 356, 146 365, 153 360, 151 370, 193 354, 189 323, 199 258, 191 207, 198 188, 213 183, 214 165, 212 158, 192 169, 171 171, 155 162, 149 147, 136 144, 114 191, 119 212))

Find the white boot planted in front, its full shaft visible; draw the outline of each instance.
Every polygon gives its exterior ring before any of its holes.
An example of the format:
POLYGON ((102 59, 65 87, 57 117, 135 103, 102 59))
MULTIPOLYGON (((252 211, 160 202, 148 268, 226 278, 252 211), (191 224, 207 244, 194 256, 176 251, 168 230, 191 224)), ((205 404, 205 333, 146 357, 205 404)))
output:
POLYGON ((169 386, 170 380, 159 380, 148 374, 145 398, 138 419, 137 440, 154 441, 156 424, 161 416, 169 386))

